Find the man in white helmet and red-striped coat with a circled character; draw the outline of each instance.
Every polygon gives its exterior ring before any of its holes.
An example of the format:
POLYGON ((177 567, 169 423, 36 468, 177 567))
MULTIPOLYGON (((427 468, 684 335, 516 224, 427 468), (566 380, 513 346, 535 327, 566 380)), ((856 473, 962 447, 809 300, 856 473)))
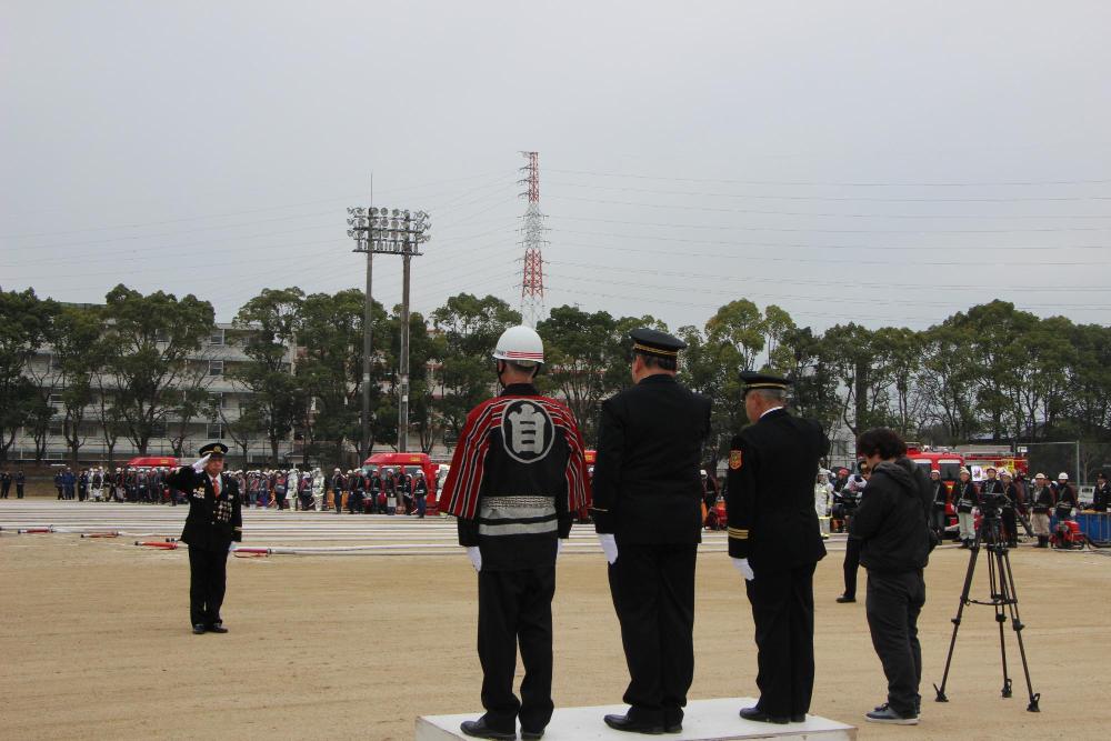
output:
POLYGON ((556 558, 571 513, 590 501, 585 451, 562 403, 540 395, 540 336, 511 327, 498 340, 501 395, 471 410, 443 485, 444 511, 478 571, 482 707, 461 725, 481 739, 539 739, 551 720, 556 558), (524 679, 513 694, 517 645, 524 679))

